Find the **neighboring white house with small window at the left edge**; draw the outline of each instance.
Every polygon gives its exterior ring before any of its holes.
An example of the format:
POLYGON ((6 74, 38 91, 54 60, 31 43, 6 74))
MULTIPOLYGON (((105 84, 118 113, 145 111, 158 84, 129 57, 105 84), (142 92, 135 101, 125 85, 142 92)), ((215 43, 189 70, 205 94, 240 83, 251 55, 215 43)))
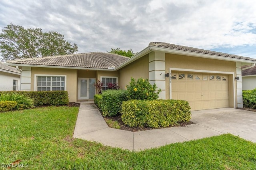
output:
POLYGON ((20 90, 20 71, 0 62, 0 91, 20 90))

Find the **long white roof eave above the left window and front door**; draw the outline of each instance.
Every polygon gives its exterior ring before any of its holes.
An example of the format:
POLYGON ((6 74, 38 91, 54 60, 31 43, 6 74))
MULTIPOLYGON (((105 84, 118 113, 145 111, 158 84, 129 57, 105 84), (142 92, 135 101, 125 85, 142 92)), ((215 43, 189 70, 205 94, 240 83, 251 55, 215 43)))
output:
POLYGON ((68 66, 48 66, 48 65, 34 65, 34 64, 16 64, 16 63, 6 63, 9 66, 26 66, 26 67, 41 67, 41 68, 66 68, 66 69, 76 69, 76 70, 101 70, 101 71, 114 71, 108 68, 84 68, 84 67, 68 67, 68 66))

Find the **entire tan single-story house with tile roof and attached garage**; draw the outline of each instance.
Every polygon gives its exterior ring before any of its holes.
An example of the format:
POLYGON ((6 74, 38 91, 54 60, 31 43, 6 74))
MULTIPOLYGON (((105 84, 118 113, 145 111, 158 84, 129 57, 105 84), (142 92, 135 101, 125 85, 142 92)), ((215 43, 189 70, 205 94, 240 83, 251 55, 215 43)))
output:
POLYGON ((192 110, 243 107, 243 65, 256 59, 180 45, 151 42, 131 59, 110 53, 84 53, 7 61, 22 69, 21 90, 67 90, 70 102, 93 99, 94 83, 148 78, 160 98, 187 100, 192 110))

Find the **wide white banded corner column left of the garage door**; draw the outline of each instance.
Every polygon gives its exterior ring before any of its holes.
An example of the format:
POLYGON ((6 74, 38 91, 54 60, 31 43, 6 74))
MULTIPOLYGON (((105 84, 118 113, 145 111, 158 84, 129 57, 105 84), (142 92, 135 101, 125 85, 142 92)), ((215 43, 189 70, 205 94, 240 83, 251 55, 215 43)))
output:
POLYGON ((149 82, 156 84, 162 90, 159 94, 160 99, 165 99, 165 53, 149 53, 149 82))

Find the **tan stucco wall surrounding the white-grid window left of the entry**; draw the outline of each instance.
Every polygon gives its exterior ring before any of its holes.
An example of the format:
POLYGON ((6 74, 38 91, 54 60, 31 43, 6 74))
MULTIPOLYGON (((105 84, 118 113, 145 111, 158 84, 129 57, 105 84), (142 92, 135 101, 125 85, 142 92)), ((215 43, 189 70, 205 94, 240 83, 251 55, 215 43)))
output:
POLYGON ((77 70, 73 69, 60 69, 60 68, 31 68, 31 91, 34 91, 34 75, 35 74, 48 74, 48 75, 66 75, 66 90, 70 102, 77 101, 77 70))

